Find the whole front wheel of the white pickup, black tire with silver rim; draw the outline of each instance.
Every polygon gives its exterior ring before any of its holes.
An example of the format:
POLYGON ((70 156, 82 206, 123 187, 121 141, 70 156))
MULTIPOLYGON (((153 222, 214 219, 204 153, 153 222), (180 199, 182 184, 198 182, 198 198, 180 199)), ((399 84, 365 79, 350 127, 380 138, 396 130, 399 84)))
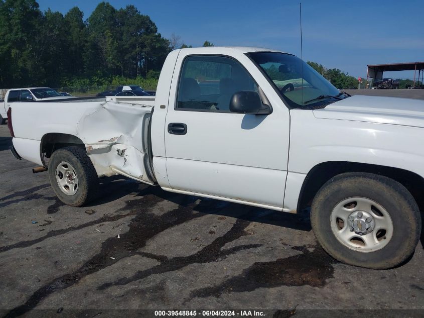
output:
POLYGON ((351 172, 339 174, 321 187, 312 202, 311 225, 318 242, 335 259, 386 269, 412 255, 421 232, 421 217, 414 198, 399 182, 351 172), (371 232, 364 232, 365 228, 371 232))

